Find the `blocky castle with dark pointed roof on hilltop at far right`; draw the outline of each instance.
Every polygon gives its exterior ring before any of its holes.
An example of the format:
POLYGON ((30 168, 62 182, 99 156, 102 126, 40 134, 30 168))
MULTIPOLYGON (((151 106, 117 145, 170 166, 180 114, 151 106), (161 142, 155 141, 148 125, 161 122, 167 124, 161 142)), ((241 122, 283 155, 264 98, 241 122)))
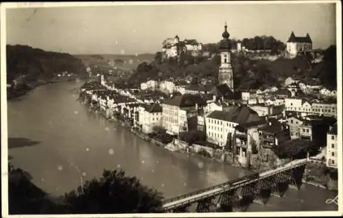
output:
POLYGON ((309 34, 305 37, 295 36, 292 31, 286 43, 286 50, 290 56, 296 56, 299 52, 312 51, 312 40, 309 34))

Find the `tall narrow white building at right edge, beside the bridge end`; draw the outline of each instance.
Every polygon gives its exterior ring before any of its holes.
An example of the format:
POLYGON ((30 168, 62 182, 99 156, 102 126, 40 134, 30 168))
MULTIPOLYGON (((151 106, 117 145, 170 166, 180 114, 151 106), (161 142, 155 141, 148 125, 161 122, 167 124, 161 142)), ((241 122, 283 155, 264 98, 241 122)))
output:
POLYGON ((327 133, 327 167, 338 168, 337 123, 327 133))

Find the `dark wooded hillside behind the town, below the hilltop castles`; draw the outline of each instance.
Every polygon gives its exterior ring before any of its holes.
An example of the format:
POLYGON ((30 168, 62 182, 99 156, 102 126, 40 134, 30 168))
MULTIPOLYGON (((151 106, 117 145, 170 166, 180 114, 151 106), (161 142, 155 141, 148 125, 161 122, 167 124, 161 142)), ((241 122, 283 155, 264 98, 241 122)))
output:
MULTIPOLYGON (((215 45, 204 45, 208 51, 215 52, 215 45)), ((336 80, 336 48, 331 46, 324 51, 323 61, 319 63, 309 53, 300 54, 294 59, 278 58, 271 60, 252 60, 244 53, 232 54, 234 86, 238 90, 282 86, 284 80, 291 75, 300 77, 316 77, 327 88, 335 88, 336 80)), ((204 78, 215 82, 220 65, 220 56, 214 53, 209 56, 191 56, 183 53, 180 58, 163 60, 161 52, 157 52, 154 60, 147 64, 143 62, 129 78, 129 83, 139 84, 152 80, 164 80, 169 77, 191 76, 204 78)))

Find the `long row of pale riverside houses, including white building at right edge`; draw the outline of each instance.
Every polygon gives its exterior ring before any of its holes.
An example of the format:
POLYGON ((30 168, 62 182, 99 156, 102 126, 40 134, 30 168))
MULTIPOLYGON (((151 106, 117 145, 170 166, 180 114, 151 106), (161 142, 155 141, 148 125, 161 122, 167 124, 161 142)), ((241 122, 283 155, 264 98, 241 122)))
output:
POLYGON ((127 90, 86 92, 91 93, 100 107, 112 114, 121 114, 145 134, 152 132, 154 126, 165 128, 167 134, 173 136, 180 132, 203 131, 206 141, 235 154, 241 165, 247 164, 249 153, 272 150, 289 141, 301 140, 327 147, 327 165, 337 167, 337 130, 331 129, 336 122, 334 118, 286 113, 285 109, 281 110, 279 117, 259 115, 249 106, 223 99, 220 95, 175 95, 152 103, 151 99, 141 101, 135 98, 127 90))

